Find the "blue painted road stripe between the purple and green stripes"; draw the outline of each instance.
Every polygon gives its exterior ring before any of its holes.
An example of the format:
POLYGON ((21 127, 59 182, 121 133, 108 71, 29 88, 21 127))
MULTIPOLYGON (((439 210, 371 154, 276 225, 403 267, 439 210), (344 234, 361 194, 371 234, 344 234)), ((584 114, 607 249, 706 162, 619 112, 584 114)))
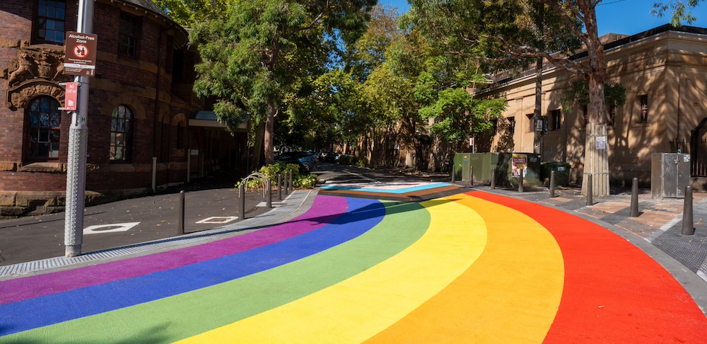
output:
POLYGON ((223 258, 0 306, 0 336, 151 302, 275 268, 361 236, 385 216, 377 200, 347 199, 330 224, 223 258))

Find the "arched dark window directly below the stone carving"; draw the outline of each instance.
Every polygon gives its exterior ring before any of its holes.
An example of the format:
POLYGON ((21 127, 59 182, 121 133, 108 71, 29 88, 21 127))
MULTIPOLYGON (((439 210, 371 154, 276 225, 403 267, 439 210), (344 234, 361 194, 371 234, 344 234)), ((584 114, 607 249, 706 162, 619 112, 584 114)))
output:
POLYGON ((43 96, 31 101, 28 108, 27 158, 32 161, 56 160, 59 158, 59 127, 62 124, 59 102, 43 96))

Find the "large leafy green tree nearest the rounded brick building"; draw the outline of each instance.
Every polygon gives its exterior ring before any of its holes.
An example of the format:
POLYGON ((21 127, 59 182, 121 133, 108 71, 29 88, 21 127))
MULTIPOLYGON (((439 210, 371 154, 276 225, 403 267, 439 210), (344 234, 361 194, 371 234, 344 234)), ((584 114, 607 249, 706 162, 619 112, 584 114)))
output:
POLYGON ((194 91, 216 98, 214 112, 228 127, 249 114, 271 164, 274 120, 287 95, 299 93, 299 78, 320 72, 337 42, 358 38, 375 2, 232 0, 222 16, 194 23, 189 37, 202 59, 194 91))

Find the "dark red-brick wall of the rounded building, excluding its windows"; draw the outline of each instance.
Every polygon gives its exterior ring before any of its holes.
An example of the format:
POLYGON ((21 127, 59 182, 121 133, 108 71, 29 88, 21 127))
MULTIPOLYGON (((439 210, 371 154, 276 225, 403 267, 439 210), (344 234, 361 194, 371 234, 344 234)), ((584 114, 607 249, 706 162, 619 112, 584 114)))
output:
MULTIPOLYGON (((199 148, 187 147, 189 115, 204 105, 191 92, 194 52, 187 53, 179 66, 170 65, 175 51, 187 50, 187 33, 164 13, 141 4, 136 0, 95 3, 93 32, 98 35, 98 55, 96 74, 90 79, 86 189, 98 195, 96 199, 151 191, 153 157, 157 158, 159 188, 185 183, 185 151, 199 148), (134 57, 117 52, 121 12, 138 18, 134 57), (181 74, 178 85, 172 81, 175 69, 181 74), (125 162, 110 160, 111 115, 118 105, 126 105, 134 115, 132 156, 125 162), (177 148, 180 123, 184 147, 177 148)), ((36 1, 0 1, 0 216, 33 210, 30 203, 44 202, 45 210, 61 210, 66 190, 69 113, 61 116, 58 159, 37 163, 28 161, 23 152, 28 139, 25 105, 37 96, 51 96, 62 106, 64 88, 59 82, 71 80, 59 72, 64 45, 33 41, 35 6, 36 1), (31 55, 30 67, 47 72, 24 72, 24 80, 18 79, 13 72, 20 69, 23 54, 31 55)), ((75 30, 77 13, 78 1, 67 0, 65 30, 75 30)))

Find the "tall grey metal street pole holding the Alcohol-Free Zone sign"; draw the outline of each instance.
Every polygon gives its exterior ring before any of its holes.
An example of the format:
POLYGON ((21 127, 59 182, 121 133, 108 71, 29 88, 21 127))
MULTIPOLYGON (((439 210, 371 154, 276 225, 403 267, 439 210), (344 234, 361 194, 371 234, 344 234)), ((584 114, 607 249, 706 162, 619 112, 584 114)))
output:
MULTIPOLYGON (((95 0, 78 1, 78 33, 93 32, 93 3, 95 0)), ((83 243, 83 205, 86 189, 86 140, 88 138, 88 86, 89 76, 74 76, 78 82, 78 103, 71 113, 69 127, 69 156, 66 161, 66 216, 64 217, 64 246, 66 258, 81 255, 83 243)))

